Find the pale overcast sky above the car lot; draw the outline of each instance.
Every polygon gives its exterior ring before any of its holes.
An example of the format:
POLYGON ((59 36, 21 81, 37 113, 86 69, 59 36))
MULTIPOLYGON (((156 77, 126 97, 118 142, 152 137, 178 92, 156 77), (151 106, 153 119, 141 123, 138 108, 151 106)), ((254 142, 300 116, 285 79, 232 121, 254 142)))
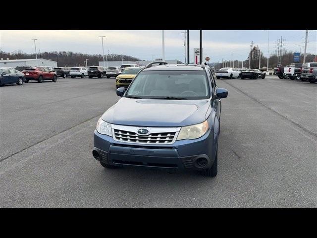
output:
MULTIPOLYGON (((184 61, 184 30, 165 30, 165 60, 184 61)), ((307 52, 317 54, 317 31, 308 34, 307 52)), ((123 54, 141 60, 162 57, 161 30, 0 30, 0 50, 12 52, 22 50, 34 53, 37 38, 37 51, 72 51, 87 54, 102 54, 101 38, 104 38, 105 54, 123 54), (155 56, 152 56, 155 55, 155 56)), ((283 37, 287 50, 304 52, 305 30, 270 30, 269 53, 275 52, 276 42, 283 37)), ((246 60, 250 44, 258 45, 267 55, 267 31, 264 30, 203 30, 204 57, 211 61, 246 60)), ((187 44, 187 40, 186 40, 187 44)), ((199 30, 190 31, 190 60, 193 61, 193 48, 199 48, 199 30)))

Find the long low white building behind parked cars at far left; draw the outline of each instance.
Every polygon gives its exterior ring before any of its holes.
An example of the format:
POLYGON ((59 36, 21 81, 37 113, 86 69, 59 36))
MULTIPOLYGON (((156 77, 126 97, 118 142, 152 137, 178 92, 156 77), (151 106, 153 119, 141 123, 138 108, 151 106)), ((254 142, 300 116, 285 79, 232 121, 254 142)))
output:
POLYGON ((16 66, 52 66, 57 67, 57 62, 53 60, 45 59, 22 59, 22 60, 0 60, 0 67, 12 67, 16 66))

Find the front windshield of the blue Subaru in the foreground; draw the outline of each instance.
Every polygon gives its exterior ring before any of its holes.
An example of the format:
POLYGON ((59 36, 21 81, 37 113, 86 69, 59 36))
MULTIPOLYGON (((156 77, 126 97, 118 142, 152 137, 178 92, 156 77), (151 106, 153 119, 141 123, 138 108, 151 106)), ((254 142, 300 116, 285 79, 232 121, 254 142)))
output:
POLYGON ((142 71, 132 81, 127 97, 144 99, 208 99, 205 71, 142 71))

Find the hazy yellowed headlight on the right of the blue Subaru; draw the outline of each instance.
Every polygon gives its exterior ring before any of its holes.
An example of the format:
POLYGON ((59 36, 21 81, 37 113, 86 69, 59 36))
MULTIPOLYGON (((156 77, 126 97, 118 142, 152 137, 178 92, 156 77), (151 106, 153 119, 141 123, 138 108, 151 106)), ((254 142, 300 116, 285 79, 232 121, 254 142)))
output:
POLYGON ((180 129, 176 140, 197 139, 205 135, 208 128, 207 120, 196 125, 184 126, 180 129))

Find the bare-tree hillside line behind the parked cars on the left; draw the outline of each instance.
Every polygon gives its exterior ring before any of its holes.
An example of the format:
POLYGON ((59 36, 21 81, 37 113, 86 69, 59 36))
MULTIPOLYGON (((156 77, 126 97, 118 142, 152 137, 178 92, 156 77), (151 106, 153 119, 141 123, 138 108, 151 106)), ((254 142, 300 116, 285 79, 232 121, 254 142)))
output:
MULTIPOLYGON (((53 52, 39 52, 37 54, 38 59, 43 58, 46 60, 53 60, 57 61, 58 67, 65 67, 65 66, 84 66, 84 61, 86 59, 88 65, 99 65, 99 61, 103 61, 102 55, 90 55, 90 54, 82 54, 82 53, 74 53, 71 51, 53 51, 53 52)), ((6 60, 20 60, 20 59, 35 59, 35 54, 28 54, 23 53, 22 51, 14 51, 14 52, 3 52, 0 51, 0 58, 6 60)), ((116 55, 116 54, 109 54, 107 55, 108 61, 139 61, 138 58, 126 55, 116 55)), ((105 56, 106 60, 106 56, 105 56)))

